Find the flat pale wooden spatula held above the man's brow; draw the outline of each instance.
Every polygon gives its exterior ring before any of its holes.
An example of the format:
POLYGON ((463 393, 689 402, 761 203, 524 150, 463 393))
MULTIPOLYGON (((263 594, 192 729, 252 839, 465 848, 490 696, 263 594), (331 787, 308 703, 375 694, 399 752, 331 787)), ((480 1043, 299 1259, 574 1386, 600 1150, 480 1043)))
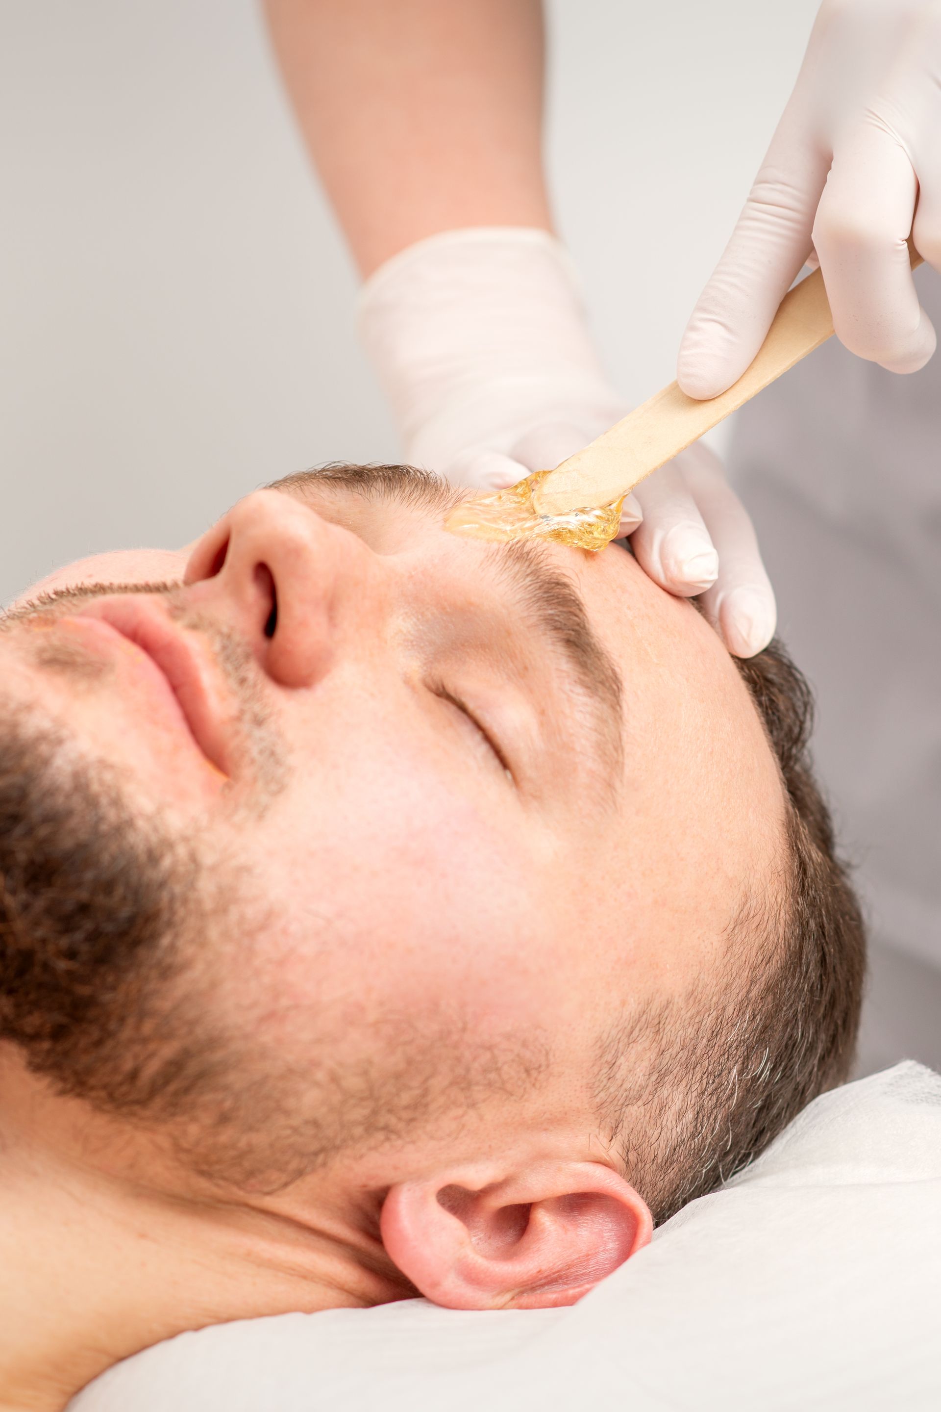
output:
MULTIPOLYGON (((921 256, 911 241, 909 250, 914 270, 921 256)), ((765 342, 738 383, 704 402, 670 383, 549 472, 533 490, 533 508, 540 515, 561 515, 612 504, 825 343, 832 332, 824 278, 815 270, 784 295, 765 342)))

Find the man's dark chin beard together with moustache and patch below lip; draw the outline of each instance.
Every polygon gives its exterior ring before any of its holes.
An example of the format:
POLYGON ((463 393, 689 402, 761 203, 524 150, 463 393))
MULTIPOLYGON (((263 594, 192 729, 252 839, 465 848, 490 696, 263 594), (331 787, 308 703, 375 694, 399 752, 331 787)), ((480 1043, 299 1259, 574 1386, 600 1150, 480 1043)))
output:
MULTIPOLYGON (((76 603, 113 593, 159 594, 182 617, 176 592, 59 590, 3 614, 0 631, 42 620, 55 628, 76 603)), ((257 820, 284 788, 286 760, 251 654, 213 623, 185 626, 202 633, 237 705, 253 785, 244 812, 257 820)), ((40 671, 76 693, 100 692, 107 710, 107 664, 55 631, 21 641, 40 671)), ((238 888, 200 833, 134 810, 120 771, 86 757, 37 707, 0 698, 0 1041, 59 1093, 164 1121, 209 1090, 219 1027, 196 997, 212 995, 210 921, 224 929, 238 888)))

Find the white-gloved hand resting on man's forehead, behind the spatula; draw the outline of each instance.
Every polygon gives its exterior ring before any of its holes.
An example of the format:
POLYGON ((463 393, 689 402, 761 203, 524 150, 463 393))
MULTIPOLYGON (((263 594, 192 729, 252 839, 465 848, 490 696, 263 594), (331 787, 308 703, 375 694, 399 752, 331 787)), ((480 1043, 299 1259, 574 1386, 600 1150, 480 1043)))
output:
MULTIPOLYGON (((550 470, 625 415, 559 241, 535 229, 454 230, 394 256, 360 297, 360 332, 405 459, 502 490, 550 470)), ((775 631, 755 532, 710 450, 693 446, 625 500, 621 532, 670 593, 701 596, 729 651, 775 631)))

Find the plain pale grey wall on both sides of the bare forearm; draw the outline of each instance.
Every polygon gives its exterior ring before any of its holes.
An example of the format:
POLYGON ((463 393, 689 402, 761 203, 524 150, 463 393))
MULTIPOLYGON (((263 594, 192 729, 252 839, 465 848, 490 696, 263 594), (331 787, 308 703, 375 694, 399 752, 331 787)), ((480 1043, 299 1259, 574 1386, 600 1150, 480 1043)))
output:
MULTIPOLYGON (((614 378, 676 345, 817 0, 554 0, 549 161, 614 378)), ((0 600, 396 455, 254 0, 0 0, 0 600)))

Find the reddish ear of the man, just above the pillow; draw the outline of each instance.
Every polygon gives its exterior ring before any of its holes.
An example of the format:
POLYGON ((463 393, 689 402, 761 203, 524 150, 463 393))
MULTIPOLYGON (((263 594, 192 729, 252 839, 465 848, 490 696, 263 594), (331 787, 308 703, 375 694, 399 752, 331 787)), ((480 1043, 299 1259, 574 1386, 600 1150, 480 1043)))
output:
POLYGON ((573 1305, 650 1240, 646 1203, 600 1162, 540 1162, 494 1179, 464 1168, 402 1182, 382 1206, 398 1268, 449 1309, 573 1305))

